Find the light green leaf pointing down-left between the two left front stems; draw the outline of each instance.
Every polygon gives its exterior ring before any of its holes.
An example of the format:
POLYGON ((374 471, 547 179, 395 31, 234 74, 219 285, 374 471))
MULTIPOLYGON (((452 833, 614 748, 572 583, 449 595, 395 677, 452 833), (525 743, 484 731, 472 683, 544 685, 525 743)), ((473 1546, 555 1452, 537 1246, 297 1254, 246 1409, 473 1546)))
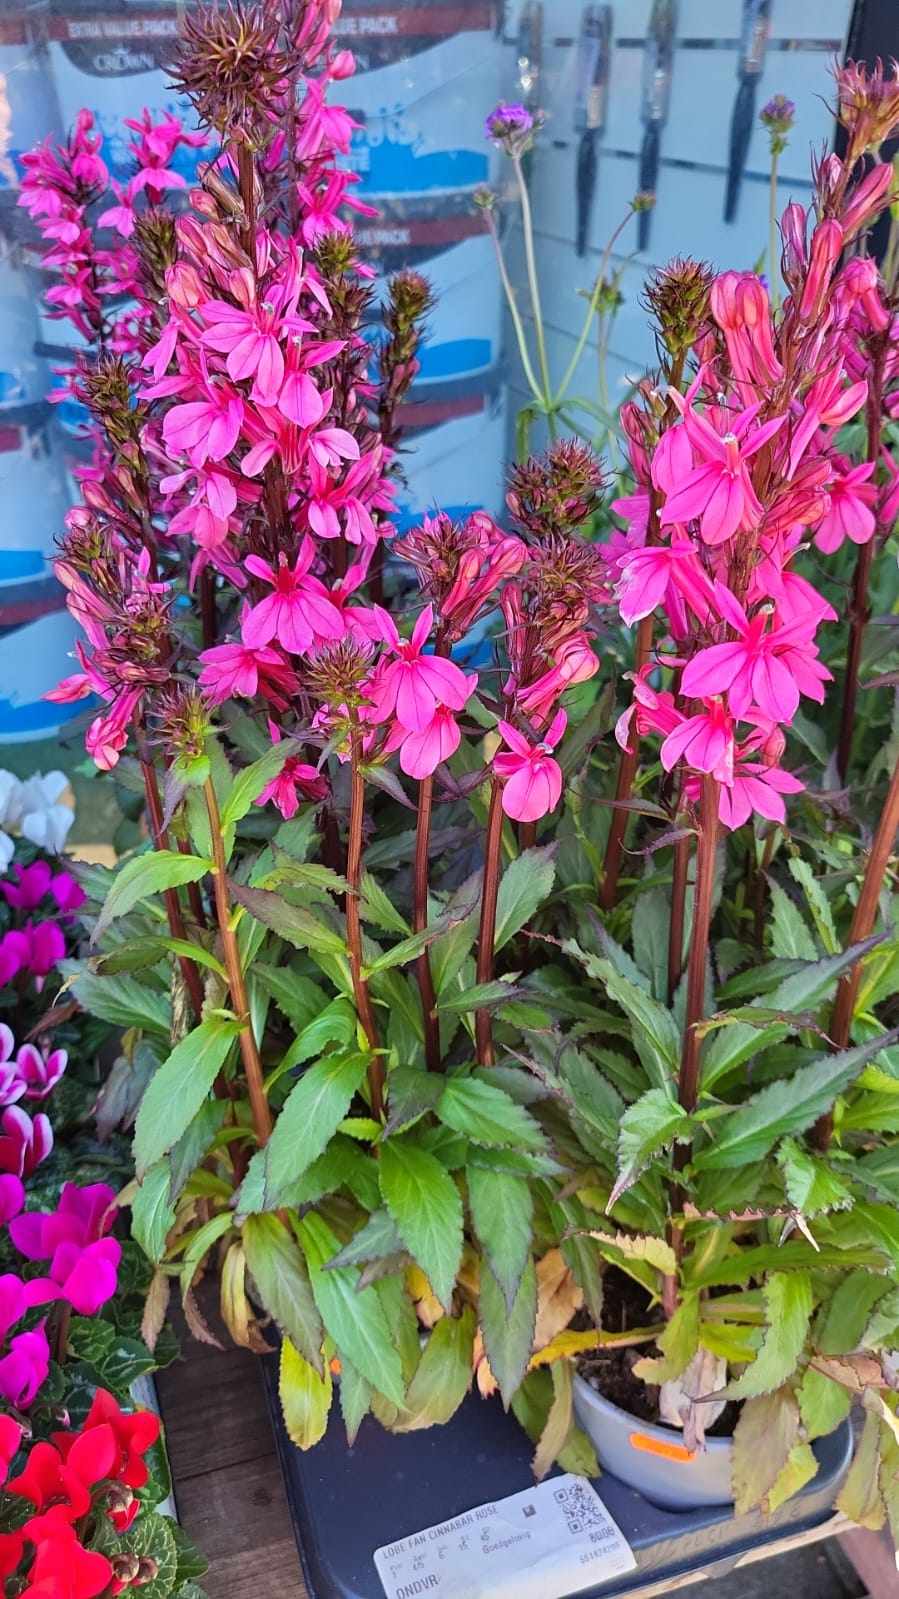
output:
POLYGON ((325 1055, 288 1094, 266 1145, 266 1202, 290 1191, 341 1126, 358 1092, 368 1057, 325 1055))

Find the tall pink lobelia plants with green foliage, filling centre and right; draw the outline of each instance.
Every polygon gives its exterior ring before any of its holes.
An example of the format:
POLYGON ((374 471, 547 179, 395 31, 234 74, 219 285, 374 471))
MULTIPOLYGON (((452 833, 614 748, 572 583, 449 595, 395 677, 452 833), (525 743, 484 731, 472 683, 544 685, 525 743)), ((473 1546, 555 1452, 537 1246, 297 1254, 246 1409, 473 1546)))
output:
MULTIPOLYGON (((338 10, 187 16, 176 82, 221 139, 194 190, 146 118, 109 193, 85 115, 22 193, 93 345, 59 692, 102 700, 88 750, 146 785, 152 835, 85 879, 93 955, 62 966, 141 1036, 150 1321, 176 1281, 211 1337, 216 1265, 234 1338, 282 1334, 301 1447, 333 1402, 350 1441, 370 1414, 411 1433, 473 1383, 537 1476, 593 1474, 598 1388, 677 1430, 672 1477, 729 1438, 737 1511, 801 1490, 859 1398, 840 1503, 896 1525, 899 779, 881 803, 870 608, 899 400, 865 253, 896 78, 838 74, 848 149, 784 214, 782 304, 693 261, 649 285, 662 368, 621 411, 611 505, 558 437, 512 467, 507 526, 435 510, 394 539, 429 289, 394 281, 373 353, 338 10)), ((518 169, 528 117, 489 125, 518 169)))

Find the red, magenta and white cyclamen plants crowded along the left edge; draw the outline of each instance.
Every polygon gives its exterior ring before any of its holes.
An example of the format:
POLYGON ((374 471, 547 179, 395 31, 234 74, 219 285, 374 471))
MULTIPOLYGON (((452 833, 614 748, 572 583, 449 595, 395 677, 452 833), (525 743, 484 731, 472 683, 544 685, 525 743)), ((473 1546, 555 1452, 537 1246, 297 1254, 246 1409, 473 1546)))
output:
MULTIPOLYGON (((56 804, 58 777, 0 774, 6 820, 37 814, 35 796, 56 804)), ((62 843, 72 812, 56 809, 62 843)), ((0 1001, 16 1025, 0 1023, 0 1581, 29 1599, 202 1599, 203 1559, 157 1511, 170 1493, 158 1418, 131 1393, 176 1346, 162 1321, 155 1356, 142 1340, 150 1273, 139 1246, 115 1236, 131 1162, 115 1079, 104 1087, 96 1065, 110 1030, 58 996, 85 894, 58 857, 24 841, 11 851, 0 879, 13 923, 0 1001)))

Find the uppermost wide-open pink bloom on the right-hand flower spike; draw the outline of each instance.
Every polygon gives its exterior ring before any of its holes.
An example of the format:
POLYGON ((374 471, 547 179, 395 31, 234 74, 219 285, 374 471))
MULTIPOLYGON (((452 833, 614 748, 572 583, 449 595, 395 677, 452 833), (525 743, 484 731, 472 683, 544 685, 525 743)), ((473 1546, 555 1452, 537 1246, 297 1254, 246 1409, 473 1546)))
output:
POLYGON ((705 544, 725 544, 761 520, 763 507, 747 461, 784 425, 784 417, 776 416, 750 432, 760 409, 752 405, 718 432, 709 416, 694 411, 681 395, 672 392, 672 398, 683 408, 683 425, 701 464, 667 494, 659 520, 662 524, 699 520, 705 544))

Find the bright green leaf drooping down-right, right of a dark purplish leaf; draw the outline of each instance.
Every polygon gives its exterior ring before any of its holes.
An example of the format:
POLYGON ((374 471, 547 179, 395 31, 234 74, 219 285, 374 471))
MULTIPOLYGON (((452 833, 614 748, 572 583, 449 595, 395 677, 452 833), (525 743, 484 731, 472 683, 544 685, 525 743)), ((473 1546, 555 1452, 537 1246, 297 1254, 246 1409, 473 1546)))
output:
POLYGON ((376 1290, 360 1289, 355 1266, 325 1270, 341 1246, 315 1210, 294 1225, 306 1252, 312 1294, 328 1334, 339 1351, 346 1350, 360 1377, 392 1404, 402 1406, 406 1396, 403 1369, 376 1290))

